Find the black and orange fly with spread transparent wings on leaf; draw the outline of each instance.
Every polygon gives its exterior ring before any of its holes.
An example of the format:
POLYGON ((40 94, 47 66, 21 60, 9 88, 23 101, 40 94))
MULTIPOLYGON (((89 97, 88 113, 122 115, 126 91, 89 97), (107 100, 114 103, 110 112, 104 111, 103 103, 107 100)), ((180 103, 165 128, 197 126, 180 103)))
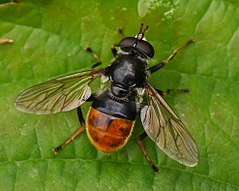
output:
POLYGON ((147 136, 172 159, 189 167, 197 165, 198 149, 195 141, 162 98, 165 92, 148 82, 150 74, 165 66, 193 40, 177 48, 166 60, 148 68, 148 62, 154 56, 154 48, 144 38, 147 29, 148 26, 144 28, 141 24, 135 37, 123 38, 118 45, 113 45, 111 49, 114 59, 107 67, 96 69, 101 62, 96 53, 88 48, 98 59, 91 70, 40 83, 17 96, 16 108, 27 113, 51 114, 77 108, 81 127, 63 144, 54 148, 54 153, 63 149, 85 129, 98 150, 104 153, 117 151, 129 140, 136 115, 139 114, 144 132, 139 135, 137 144, 155 173, 159 169, 142 142, 147 136), (116 47, 120 50, 117 51, 116 47), (98 93, 92 93, 90 84, 98 77, 102 77, 103 86, 98 93), (86 122, 80 107, 84 102, 92 102, 86 122))

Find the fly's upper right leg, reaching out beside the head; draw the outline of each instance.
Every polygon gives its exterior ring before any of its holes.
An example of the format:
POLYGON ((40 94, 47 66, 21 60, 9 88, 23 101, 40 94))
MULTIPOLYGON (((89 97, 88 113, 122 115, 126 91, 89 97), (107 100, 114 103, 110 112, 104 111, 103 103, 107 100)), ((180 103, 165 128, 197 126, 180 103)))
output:
POLYGON ((162 68, 163 66, 165 66, 167 63, 169 63, 175 56, 178 52, 180 52, 183 48, 185 48, 186 46, 188 46, 189 44, 193 43, 194 40, 192 38, 190 38, 186 43, 184 43, 182 46, 176 48, 173 53, 164 61, 152 66, 149 68, 149 71, 151 73, 154 73, 156 71, 158 71, 160 68, 162 68))

